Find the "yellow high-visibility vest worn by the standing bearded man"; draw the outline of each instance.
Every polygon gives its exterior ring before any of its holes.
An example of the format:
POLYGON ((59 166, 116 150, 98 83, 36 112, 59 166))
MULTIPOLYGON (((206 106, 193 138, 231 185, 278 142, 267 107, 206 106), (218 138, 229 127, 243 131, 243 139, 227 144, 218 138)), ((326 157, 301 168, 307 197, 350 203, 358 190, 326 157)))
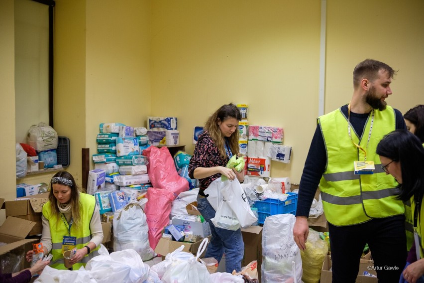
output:
POLYGON ((353 161, 364 160, 364 153, 350 140, 347 133, 347 117, 337 109, 318 118, 325 143, 327 164, 319 182, 325 217, 335 226, 353 225, 372 218, 383 218, 404 213, 402 201, 396 197, 399 189, 391 175, 381 168, 376 154, 378 142, 396 128, 393 108, 374 110, 371 139, 370 116, 359 138, 354 131, 352 140, 367 152, 367 161, 374 161, 374 174, 355 175, 353 161))

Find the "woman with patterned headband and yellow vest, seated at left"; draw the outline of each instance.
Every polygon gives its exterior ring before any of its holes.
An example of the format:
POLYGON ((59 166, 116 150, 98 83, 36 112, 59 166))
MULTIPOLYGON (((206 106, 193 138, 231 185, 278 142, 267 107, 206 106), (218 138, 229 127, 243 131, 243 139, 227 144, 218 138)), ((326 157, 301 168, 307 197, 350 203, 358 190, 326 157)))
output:
MULTIPOLYGON (((67 269, 63 252, 76 247, 69 260, 74 270, 98 255, 103 241, 99 208, 94 196, 80 193, 74 177, 66 172, 56 173, 50 181, 49 201, 43 206, 43 233, 41 243, 44 254, 53 255, 51 267, 67 269)), ((26 260, 32 261, 32 251, 26 260)))

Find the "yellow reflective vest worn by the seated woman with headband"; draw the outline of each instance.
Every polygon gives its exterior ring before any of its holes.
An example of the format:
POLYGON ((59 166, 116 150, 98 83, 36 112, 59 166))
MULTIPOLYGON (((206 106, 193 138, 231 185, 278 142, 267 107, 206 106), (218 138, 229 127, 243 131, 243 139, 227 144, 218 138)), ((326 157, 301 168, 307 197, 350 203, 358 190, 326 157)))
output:
MULTIPOLYGON (((77 237, 77 249, 82 249, 92 238, 90 222, 94 214, 96 200, 92 195, 80 193, 80 204, 81 223, 79 227, 75 224, 71 227, 71 236, 77 237)), ((62 255, 62 240, 63 236, 69 235, 68 227, 65 226, 65 223, 63 223, 60 217, 52 213, 50 201, 43 206, 43 216, 49 221, 50 234, 52 237, 52 250, 50 252, 53 255, 53 259, 50 267, 55 269, 66 269, 62 255)), ((85 266, 90 259, 98 255, 96 252, 98 249, 99 247, 96 247, 92 253, 86 255, 79 263, 74 264, 73 269, 78 270, 81 266, 85 266)))

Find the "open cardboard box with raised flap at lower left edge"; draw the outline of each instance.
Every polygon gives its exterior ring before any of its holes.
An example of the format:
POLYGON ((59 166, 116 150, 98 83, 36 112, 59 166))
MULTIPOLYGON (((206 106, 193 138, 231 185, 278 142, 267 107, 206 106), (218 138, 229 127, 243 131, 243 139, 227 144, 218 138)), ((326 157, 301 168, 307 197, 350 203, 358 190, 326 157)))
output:
MULTIPOLYGON (((1 204, 2 201, 4 200, 1 200, 1 204)), ((25 239, 34 225, 35 222, 23 220, 13 216, 7 217, 3 225, 1 225, 0 242, 7 243, 7 245, 0 246, 0 258, 5 254, 16 254, 23 256, 19 268, 10 272, 18 272, 26 267, 24 255, 27 251, 32 250, 32 242, 39 241, 38 239, 25 239)))

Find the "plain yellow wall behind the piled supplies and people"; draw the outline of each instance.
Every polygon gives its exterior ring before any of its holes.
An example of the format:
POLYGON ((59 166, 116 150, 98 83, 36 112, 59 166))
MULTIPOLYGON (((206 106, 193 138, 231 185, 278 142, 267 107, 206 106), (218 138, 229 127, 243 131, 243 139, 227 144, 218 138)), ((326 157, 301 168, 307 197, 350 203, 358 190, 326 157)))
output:
MULTIPOLYGON (((422 104, 424 2, 327 0, 325 113, 347 103, 365 58, 399 73, 388 103, 422 104)), ((285 129, 292 162, 272 176, 299 182, 318 116, 319 0, 56 0, 55 129, 71 140, 69 171, 81 185, 81 148, 96 152, 100 123, 145 126, 176 116, 193 152, 194 126, 220 105, 249 104, 249 122, 285 129), (119 102, 125 99, 125 102, 119 102)), ((0 197, 15 196, 13 0, 0 1, 0 197), (8 125, 10 124, 10 125, 8 125), (13 135, 12 135, 13 133, 13 135)), ((51 174, 16 182, 48 182, 51 174)), ((0 214, 1 216, 1 214, 0 214)), ((1 221, 1 219, 0 219, 1 221)))

